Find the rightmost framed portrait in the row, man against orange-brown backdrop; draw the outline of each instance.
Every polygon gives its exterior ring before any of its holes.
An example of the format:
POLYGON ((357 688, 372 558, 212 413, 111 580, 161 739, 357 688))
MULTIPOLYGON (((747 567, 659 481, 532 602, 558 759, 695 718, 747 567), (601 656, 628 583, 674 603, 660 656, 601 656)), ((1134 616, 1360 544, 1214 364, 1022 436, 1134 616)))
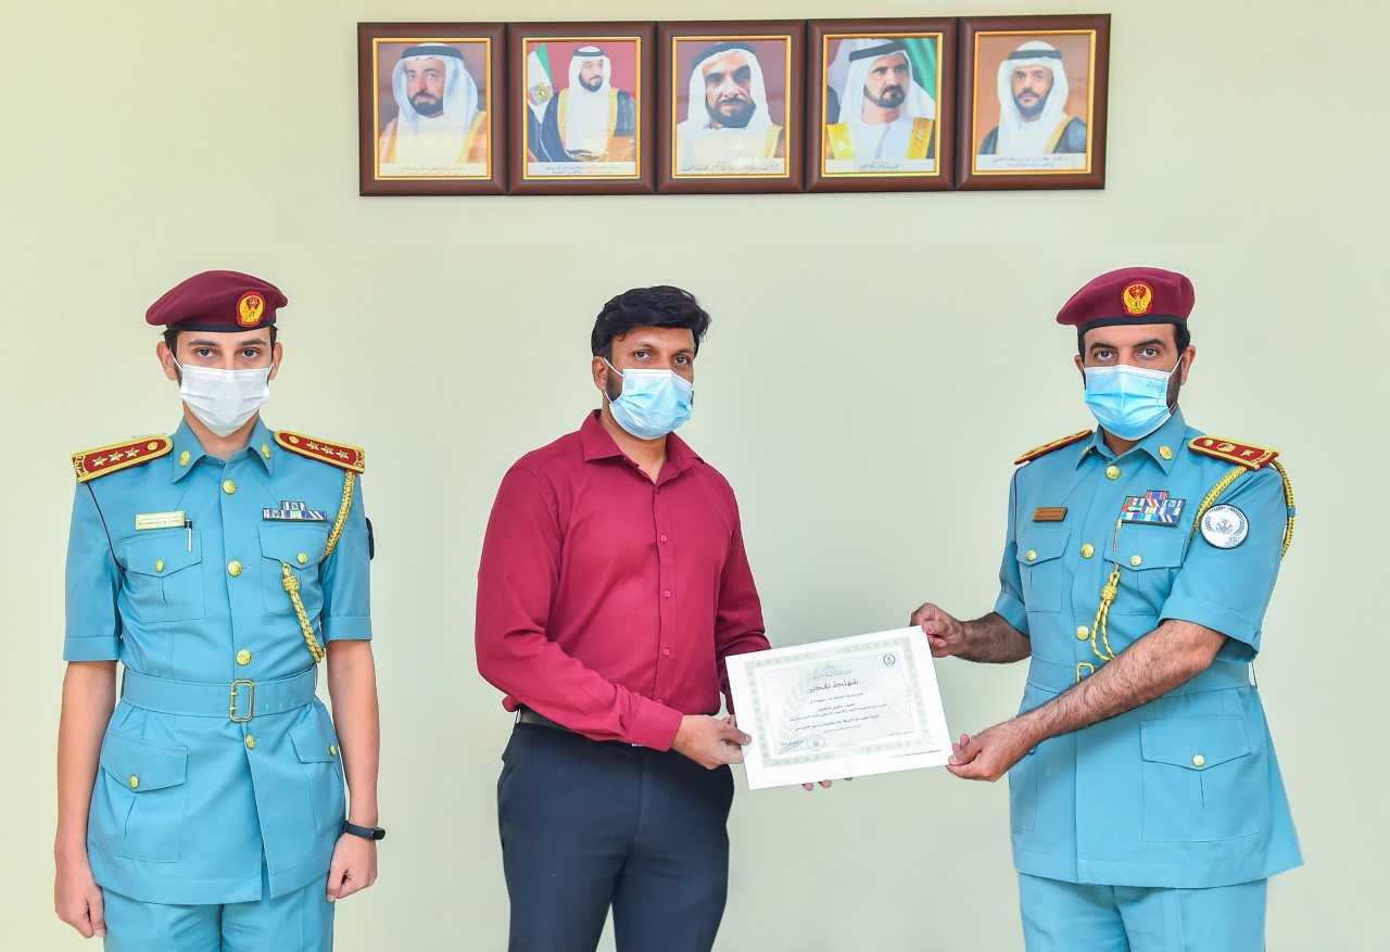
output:
POLYGON ((1105 188, 1109 56, 1109 14, 963 18, 959 188, 1105 188))

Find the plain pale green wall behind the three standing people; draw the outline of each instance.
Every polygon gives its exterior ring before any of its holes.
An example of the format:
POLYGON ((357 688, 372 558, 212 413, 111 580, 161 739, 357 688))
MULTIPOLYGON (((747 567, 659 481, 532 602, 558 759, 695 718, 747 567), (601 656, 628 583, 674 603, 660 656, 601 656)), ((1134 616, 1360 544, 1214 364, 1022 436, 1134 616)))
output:
MULTIPOLYGON (((991 606, 1009 460, 1087 422, 1051 315, 1148 263, 1197 282, 1188 418, 1283 449, 1301 502, 1259 674, 1308 866, 1272 888, 1270 948, 1384 948, 1380 3, 1115 3, 1104 192, 356 195, 359 19, 1101 6, 7 4, 0 941, 78 946, 50 913, 67 454, 174 425, 142 313, 175 281, 284 285, 271 422, 368 448, 392 832, 339 948, 493 949, 509 719, 474 670, 473 578, 506 466, 595 403, 602 302, 676 282, 714 314, 687 435, 737 488, 771 638, 791 643, 901 624, 927 596, 991 606)), ((940 671, 958 730, 1016 707, 1022 668, 940 671)), ((1019 946, 1002 784, 742 792, 730 826, 723 949, 1019 946)))

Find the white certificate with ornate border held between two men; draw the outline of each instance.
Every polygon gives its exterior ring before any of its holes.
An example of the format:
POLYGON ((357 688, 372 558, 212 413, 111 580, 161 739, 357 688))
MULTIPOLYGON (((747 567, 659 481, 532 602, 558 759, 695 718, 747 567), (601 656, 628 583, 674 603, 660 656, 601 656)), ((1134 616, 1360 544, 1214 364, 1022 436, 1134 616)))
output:
POLYGON ((748 787, 940 767, 951 756, 920 628, 774 648, 727 660, 748 787))

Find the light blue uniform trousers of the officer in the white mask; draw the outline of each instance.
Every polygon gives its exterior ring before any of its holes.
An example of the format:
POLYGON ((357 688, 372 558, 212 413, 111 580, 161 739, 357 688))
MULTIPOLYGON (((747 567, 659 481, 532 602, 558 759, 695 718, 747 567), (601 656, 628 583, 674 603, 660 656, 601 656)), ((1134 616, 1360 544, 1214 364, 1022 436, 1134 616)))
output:
POLYGON ((332 952, 328 876, 279 896, 171 906, 106 889, 106 952, 332 952))

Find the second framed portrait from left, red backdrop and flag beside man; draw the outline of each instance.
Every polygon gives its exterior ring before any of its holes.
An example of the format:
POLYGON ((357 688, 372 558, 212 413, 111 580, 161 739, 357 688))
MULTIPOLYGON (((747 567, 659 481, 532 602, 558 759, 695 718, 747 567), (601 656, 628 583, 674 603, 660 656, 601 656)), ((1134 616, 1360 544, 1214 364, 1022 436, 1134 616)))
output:
POLYGON ((652 192, 656 24, 512 24, 512 195, 652 192))

